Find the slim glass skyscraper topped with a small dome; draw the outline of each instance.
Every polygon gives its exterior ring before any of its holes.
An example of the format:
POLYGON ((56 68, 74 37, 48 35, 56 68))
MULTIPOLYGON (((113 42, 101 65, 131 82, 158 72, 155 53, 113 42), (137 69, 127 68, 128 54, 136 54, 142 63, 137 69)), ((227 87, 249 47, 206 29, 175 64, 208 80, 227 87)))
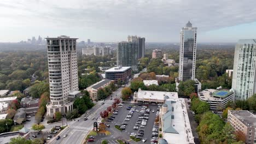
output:
POLYGON ((196 61, 196 27, 188 22, 181 29, 181 45, 179 47, 179 80, 195 79, 196 61))

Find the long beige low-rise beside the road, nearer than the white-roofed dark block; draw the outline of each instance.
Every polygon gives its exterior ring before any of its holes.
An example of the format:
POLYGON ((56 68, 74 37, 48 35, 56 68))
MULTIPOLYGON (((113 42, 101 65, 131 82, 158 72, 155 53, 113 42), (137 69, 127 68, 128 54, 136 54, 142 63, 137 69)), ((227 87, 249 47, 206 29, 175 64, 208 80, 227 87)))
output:
POLYGON ((97 83, 94 83, 94 85, 87 87, 85 90, 89 92, 91 100, 98 100, 98 97, 97 97, 98 89, 108 86, 111 82, 114 82, 114 81, 108 80, 108 79, 101 80, 97 83))

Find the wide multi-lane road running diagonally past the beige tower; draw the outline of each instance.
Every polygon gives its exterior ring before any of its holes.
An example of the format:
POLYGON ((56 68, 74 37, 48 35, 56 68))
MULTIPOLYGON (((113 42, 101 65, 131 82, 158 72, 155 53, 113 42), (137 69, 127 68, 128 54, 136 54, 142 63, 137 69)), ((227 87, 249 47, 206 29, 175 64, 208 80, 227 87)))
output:
MULTIPOLYGON (((112 94, 113 98, 120 98, 122 89, 123 87, 117 89, 117 91, 112 94)), ((59 140, 55 140, 56 137, 54 137, 54 140, 49 141, 49 143, 82 143, 85 135, 87 135, 89 131, 92 130, 93 123, 96 122, 97 118, 100 118, 100 112, 106 110, 108 106, 112 105, 113 100, 110 100, 110 98, 108 97, 104 101, 104 105, 102 105, 101 103, 102 101, 98 101, 97 105, 92 107, 91 110, 86 111, 83 116, 81 116, 80 118, 76 118, 75 121, 69 123, 68 128, 65 131, 62 131, 62 133, 60 134, 59 140), (87 121, 84 121, 83 117, 85 115, 88 117, 87 121), (92 120, 92 118, 95 118, 95 120, 92 120), (68 134, 68 136, 63 137, 65 134, 68 134)))

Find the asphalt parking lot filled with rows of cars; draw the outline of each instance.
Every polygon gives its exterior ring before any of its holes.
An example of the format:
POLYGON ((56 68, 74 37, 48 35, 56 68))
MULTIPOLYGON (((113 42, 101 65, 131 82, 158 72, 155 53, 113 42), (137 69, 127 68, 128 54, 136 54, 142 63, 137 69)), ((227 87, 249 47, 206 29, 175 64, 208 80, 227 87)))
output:
MULTIPOLYGON (((146 143, 150 143, 150 140, 152 139, 152 135, 153 135, 152 134, 153 127, 158 127, 157 125, 154 125, 158 105, 148 105, 147 108, 145 108, 146 109, 145 112, 147 111, 147 109, 151 109, 148 113, 141 111, 143 106, 139 106, 138 104, 125 103, 123 104, 123 107, 118 108, 118 115, 112 115, 115 118, 113 120, 110 120, 111 122, 107 122, 107 123, 110 125, 110 128, 112 130, 117 131, 117 133, 119 133, 121 137, 124 137, 125 140, 130 140, 130 135, 132 134, 135 137, 136 136, 140 137, 141 140, 146 138, 147 139, 146 143), (133 109, 137 110, 137 111, 134 111, 133 114, 131 114, 132 117, 127 117, 129 113, 132 113, 130 112, 130 110, 126 109, 129 106, 130 107, 135 106, 133 109), (144 125, 143 125, 143 121, 146 121, 144 119, 147 119, 147 123, 144 122, 144 125), (123 124, 126 124, 126 127, 125 128, 121 127, 124 129, 121 130, 121 133, 120 133, 120 131, 115 128, 115 125, 121 126, 123 124), (137 128, 135 128, 136 125, 137 125, 137 128), (144 127, 141 125, 143 125, 144 127), (141 136, 138 136, 138 135, 141 135, 141 136)), ((158 133, 158 129, 155 130, 155 133, 158 133)), ((155 137, 158 137, 158 134, 155 134, 155 137)))

